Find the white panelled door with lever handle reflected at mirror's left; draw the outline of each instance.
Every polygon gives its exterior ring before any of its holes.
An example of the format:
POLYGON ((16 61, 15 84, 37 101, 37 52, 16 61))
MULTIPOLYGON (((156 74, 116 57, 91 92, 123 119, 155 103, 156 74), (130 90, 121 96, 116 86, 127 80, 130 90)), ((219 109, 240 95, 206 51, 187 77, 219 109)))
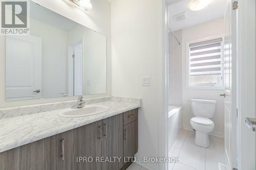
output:
POLYGON ((6 36, 6 100, 41 98, 41 38, 6 36))

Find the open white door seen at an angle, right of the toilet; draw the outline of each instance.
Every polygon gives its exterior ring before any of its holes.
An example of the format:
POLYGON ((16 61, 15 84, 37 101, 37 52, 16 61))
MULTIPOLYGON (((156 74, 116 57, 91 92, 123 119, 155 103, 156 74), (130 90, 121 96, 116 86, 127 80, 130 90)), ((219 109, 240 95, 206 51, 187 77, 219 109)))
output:
POLYGON ((224 14, 225 154, 229 169, 237 167, 237 11, 227 1, 224 14))

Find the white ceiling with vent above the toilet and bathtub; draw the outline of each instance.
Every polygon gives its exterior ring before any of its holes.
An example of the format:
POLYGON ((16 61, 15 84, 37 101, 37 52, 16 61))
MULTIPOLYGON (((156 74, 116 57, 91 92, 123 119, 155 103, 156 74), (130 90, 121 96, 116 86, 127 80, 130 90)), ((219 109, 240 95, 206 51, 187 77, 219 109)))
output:
POLYGON ((211 3, 200 11, 190 11, 188 4, 190 0, 173 0, 168 7, 169 26, 173 31, 198 25, 209 20, 224 16, 226 0, 212 0, 211 3), (186 13, 187 18, 181 21, 175 21, 174 15, 186 13))

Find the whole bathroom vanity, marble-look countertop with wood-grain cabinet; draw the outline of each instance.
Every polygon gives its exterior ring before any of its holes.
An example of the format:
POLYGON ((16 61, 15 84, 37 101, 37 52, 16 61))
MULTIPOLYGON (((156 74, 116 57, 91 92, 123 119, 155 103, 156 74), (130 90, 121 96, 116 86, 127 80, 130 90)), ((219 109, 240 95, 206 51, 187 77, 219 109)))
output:
POLYGON ((100 105, 109 106, 110 109, 80 118, 60 118, 57 116, 62 110, 60 109, 0 119, 3 127, 8 126, 7 122, 13 124, 12 121, 18 119, 23 119, 24 123, 17 124, 24 124, 26 127, 16 127, 16 130, 6 127, 12 131, 10 133, 0 131, 0 169, 125 169, 131 162, 131 159, 127 162, 129 157, 133 157, 138 151, 139 105, 115 102, 113 99, 100 105), (38 117, 38 120, 34 119, 35 122, 28 125, 25 119, 28 116, 33 117, 32 119, 38 117), (55 120, 48 122, 50 119, 44 117, 55 120), (51 135, 56 133, 54 129, 63 132, 51 135), (36 131, 40 131, 40 135, 36 131), (23 134, 19 139, 13 136, 15 133, 17 136, 23 134), (38 138, 41 139, 37 140, 38 138))

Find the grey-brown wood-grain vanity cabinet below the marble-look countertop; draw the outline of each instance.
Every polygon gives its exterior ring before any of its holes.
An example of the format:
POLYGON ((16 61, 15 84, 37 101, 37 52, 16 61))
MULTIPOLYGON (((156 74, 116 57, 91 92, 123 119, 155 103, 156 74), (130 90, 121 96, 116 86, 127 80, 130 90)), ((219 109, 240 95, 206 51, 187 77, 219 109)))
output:
POLYGON ((0 170, 119 170, 123 157, 138 150, 138 120, 123 126, 123 116, 126 112, 2 152, 0 170))

